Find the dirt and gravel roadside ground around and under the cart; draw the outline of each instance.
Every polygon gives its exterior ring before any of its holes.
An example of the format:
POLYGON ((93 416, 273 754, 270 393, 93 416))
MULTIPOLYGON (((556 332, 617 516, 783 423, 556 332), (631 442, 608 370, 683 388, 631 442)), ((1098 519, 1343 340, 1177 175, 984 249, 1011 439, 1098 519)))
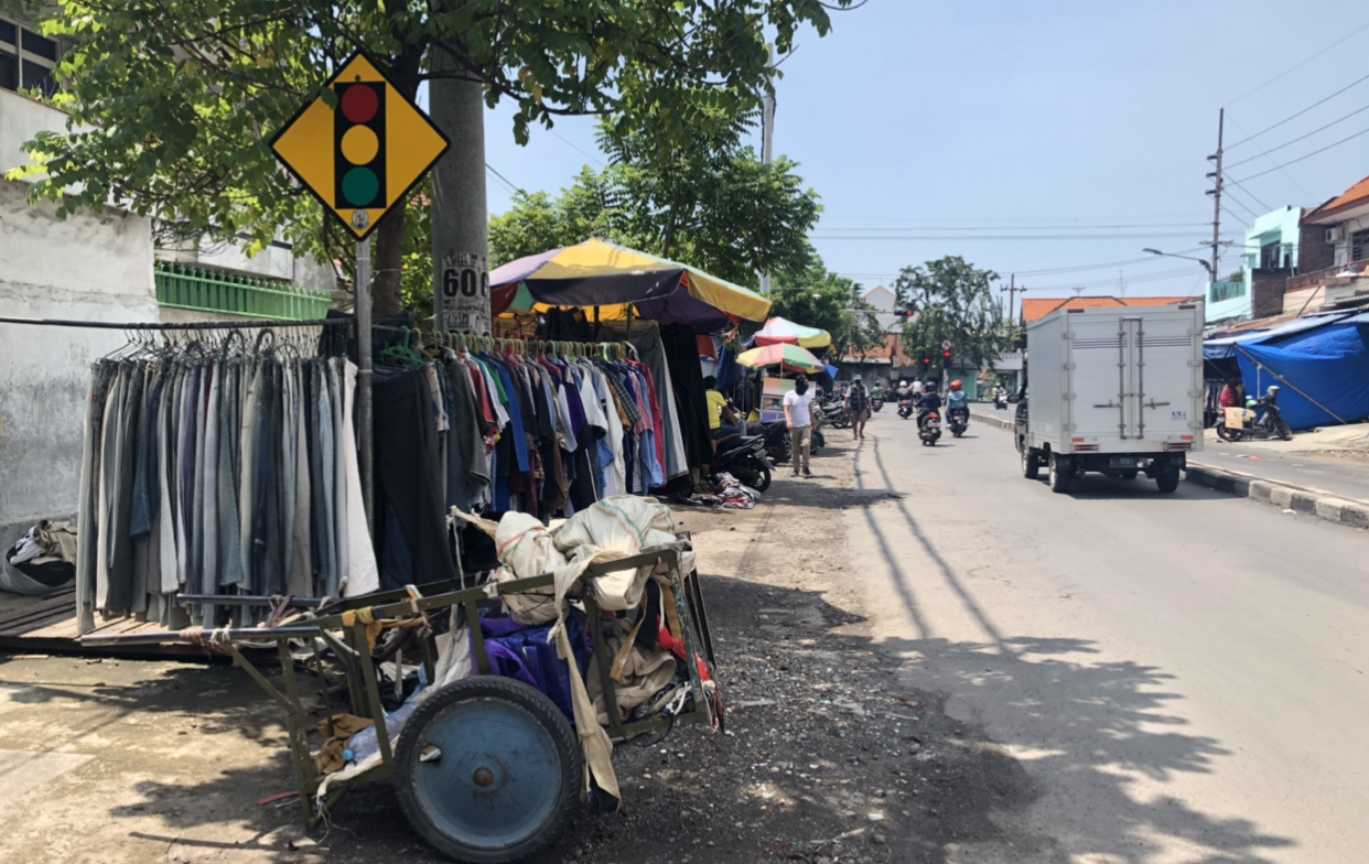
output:
MULTIPOLYGON (((991 839, 1025 774, 869 638, 839 512, 849 438, 783 471, 754 511, 676 509, 693 531, 726 734, 683 728, 615 752, 623 812, 578 812, 531 861, 936 864, 991 839)), ((227 665, 0 659, 0 861, 441 861, 387 786, 304 833, 279 709, 227 665)))

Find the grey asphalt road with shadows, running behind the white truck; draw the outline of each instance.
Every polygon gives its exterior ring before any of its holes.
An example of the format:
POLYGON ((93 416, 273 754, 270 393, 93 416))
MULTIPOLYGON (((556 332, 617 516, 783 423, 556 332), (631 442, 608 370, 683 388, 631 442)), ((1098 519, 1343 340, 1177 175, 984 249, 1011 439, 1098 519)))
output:
POLYGON ((876 418, 842 516, 879 641, 1027 776, 991 864, 1365 860, 1369 537, 1181 483, 1023 479, 1010 434, 876 418))

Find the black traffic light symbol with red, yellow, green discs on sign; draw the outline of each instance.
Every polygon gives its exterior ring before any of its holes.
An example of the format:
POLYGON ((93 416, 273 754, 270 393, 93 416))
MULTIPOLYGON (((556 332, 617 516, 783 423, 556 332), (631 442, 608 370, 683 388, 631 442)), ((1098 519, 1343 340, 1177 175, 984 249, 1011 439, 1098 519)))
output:
POLYGON ((385 207, 385 82, 340 82, 334 89, 335 200, 344 208, 385 207))

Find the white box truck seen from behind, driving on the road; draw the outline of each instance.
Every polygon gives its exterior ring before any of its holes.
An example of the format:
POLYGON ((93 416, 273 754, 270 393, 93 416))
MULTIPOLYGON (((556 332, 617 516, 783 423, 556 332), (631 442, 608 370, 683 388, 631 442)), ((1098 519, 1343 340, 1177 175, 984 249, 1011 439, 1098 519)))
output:
POLYGON ((1062 308, 1027 325, 1014 438, 1023 475, 1068 492, 1086 471, 1179 487, 1202 449, 1202 303, 1062 308))

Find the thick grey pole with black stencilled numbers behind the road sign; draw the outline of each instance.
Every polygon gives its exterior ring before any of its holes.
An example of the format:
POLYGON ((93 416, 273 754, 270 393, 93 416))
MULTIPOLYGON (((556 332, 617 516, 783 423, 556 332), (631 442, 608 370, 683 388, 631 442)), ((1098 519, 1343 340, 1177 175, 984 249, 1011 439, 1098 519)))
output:
MULTIPOLYGON (((434 71, 453 71, 445 51, 434 71)), ((428 85, 433 122, 452 141, 433 168, 433 311, 437 327, 490 333, 489 209, 485 197, 485 101, 475 81, 428 85)))

